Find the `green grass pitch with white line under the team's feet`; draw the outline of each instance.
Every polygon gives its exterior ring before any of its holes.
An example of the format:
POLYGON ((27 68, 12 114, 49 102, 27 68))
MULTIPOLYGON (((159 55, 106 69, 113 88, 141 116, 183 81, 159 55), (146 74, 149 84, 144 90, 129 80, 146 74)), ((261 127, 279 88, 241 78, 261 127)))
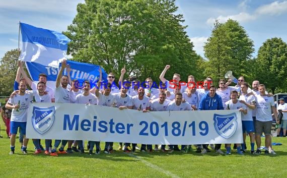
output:
MULTIPOLYGON (((1 135, 6 137, 1 123, 1 135)), ((249 139, 249 137, 247 137, 249 139)), ((14 155, 9 155, 10 140, 0 139, 0 177, 284 177, 287 170, 287 138, 272 138, 282 146, 273 146, 277 155, 250 155, 250 145, 244 156, 236 154, 218 155, 212 150, 206 155, 195 152, 126 154, 116 151, 99 155, 73 153, 58 157, 44 154, 34 155, 32 141, 28 144, 28 155, 20 150, 17 140, 14 155)), ((41 143, 44 143, 42 141, 41 143)), ((262 138, 264 143, 264 138, 262 138)), ((114 148, 118 144, 114 143, 114 148)), ((223 148, 224 146, 222 146, 223 148)), ((104 148, 104 143, 101 143, 104 148)), ((223 148, 224 150, 224 148, 223 148)), ((225 150, 224 150, 225 151, 225 150)))

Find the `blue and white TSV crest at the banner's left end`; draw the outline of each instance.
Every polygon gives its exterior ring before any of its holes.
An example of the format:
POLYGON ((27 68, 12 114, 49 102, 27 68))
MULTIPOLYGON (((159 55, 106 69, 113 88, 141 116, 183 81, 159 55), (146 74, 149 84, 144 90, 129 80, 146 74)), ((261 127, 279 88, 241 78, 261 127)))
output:
POLYGON ((39 134, 46 133, 55 121, 55 106, 48 108, 33 107, 32 124, 39 134))

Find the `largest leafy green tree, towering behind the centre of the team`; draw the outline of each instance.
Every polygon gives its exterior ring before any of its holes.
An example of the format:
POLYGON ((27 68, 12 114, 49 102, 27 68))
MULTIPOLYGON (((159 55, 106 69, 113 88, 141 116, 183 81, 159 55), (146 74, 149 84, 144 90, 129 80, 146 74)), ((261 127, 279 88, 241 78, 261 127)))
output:
POLYGON ((186 35, 174 0, 86 0, 79 4, 73 24, 64 32, 72 42, 73 60, 101 65, 117 77, 128 75, 159 81, 165 65, 167 78, 186 78, 196 63, 193 44, 186 35))

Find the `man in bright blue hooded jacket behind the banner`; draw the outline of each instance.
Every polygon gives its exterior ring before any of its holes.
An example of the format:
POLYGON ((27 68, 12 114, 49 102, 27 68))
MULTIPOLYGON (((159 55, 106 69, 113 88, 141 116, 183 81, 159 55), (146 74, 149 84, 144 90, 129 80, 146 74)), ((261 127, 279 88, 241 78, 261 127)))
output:
MULTIPOLYGON (((216 87, 214 85, 210 85, 209 93, 204 95, 200 102, 198 110, 223 110, 223 103, 221 97, 216 93, 216 87)), ((202 145, 203 150, 201 154, 206 154, 207 145, 202 145)), ((224 152, 220 149, 221 144, 216 144, 215 150, 217 153, 224 154, 224 152)))

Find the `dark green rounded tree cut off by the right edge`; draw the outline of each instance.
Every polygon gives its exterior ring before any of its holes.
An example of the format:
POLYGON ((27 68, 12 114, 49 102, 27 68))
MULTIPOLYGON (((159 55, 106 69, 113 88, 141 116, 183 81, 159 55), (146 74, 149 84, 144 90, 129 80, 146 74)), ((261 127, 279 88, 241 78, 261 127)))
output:
POLYGON ((286 91, 287 44, 281 38, 267 39, 258 50, 255 70, 257 79, 272 93, 286 91))

